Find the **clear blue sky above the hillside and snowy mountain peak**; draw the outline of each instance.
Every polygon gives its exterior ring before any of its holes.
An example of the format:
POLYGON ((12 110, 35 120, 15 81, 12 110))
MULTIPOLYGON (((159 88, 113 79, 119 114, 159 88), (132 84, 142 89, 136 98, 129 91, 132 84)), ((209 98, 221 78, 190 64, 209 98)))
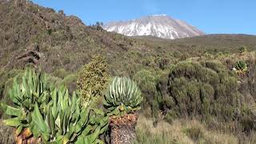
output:
POLYGON ((167 14, 207 34, 256 34, 256 0, 32 0, 86 25, 167 14))

